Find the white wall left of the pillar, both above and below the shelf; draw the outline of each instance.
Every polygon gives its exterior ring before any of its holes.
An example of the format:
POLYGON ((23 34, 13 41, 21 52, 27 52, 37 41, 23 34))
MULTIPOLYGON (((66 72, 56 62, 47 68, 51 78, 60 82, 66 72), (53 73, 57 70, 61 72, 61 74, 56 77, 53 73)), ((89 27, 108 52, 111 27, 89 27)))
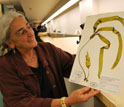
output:
MULTIPOLYGON (((77 34, 80 28, 80 11, 78 4, 74 5, 71 9, 67 10, 61 16, 52 20, 47 24, 48 32, 61 32, 64 34, 77 34)), ((44 41, 51 42, 59 48, 68 51, 72 54, 77 52, 77 41, 79 37, 66 37, 66 38, 42 38, 44 41)))

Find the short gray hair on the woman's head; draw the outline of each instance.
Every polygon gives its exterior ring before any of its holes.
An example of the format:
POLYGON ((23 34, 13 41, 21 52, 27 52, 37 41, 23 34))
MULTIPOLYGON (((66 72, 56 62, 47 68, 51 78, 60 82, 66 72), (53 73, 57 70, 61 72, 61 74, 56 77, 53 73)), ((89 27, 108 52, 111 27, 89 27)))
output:
POLYGON ((5 49, 9 50, 9 47, 5 44, 5 41, 10 39, 10 25, 12 21, 18 17, 24 15, 21 12, 10 10, 0 17, 0 50, 3 55, 5 49))

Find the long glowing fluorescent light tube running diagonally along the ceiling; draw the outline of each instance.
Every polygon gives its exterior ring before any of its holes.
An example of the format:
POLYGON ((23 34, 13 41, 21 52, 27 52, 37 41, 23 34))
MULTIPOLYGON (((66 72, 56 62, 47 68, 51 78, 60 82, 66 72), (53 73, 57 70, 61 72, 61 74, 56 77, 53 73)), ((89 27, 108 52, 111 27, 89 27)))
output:
POLYGON ((77 3, 78 1, 79 0, 70 0, 62 8, 60 8, 57 12, 55 12, 52 16, 50 16, 47 20, 45 20, 41 25, 46 24, 47 22, 49 22, 50 20, 52 20, 53 18, 55 18, 56 16, 58 16, 59 14, 61 14, 63 11, 65 11, 66 9, 68 9, 69 7, 71 7, 72 5, 74 5, 75 3, 77 3))

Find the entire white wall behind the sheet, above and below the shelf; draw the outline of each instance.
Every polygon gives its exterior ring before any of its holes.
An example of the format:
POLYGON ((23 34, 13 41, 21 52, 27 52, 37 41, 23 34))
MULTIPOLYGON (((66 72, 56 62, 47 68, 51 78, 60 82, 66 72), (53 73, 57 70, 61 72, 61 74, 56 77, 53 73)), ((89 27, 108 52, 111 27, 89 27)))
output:
MULTIPOLYGON (((85 19, 89 15, 124 11, 123 1, 124 0, 81 0, 79 6, 73 6, 70 10, 48 23, 48 32, 56 30, 56 32, 60 31, 61 33, 75 34, 77 30, 82 31, 79 26, 80 24, 85 23, 85 19)), ((70 52, 72 53, 76 53, 78 48, 78 45, 74 43, 78 38, 43 38, 43 40, 49 41, 67 51, 70 50, 71 46, 70 52), (67 41, 69 41, 69 46, 67 41), (64 44, 66 44, 66 47, 64 44), (72 51, 73 47, 76 47, 74 48, 74 51, 72 51)))

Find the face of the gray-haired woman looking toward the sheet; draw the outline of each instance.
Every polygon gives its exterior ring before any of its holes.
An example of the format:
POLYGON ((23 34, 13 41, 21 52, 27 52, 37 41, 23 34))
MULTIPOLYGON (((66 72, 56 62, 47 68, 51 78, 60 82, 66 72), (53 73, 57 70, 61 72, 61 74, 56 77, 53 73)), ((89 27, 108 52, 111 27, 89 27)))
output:
POLYGON ((23 17, 17 17, 10 26, 10 41, 18 50, 33 49, 37 46, 34 31, 23 17))

